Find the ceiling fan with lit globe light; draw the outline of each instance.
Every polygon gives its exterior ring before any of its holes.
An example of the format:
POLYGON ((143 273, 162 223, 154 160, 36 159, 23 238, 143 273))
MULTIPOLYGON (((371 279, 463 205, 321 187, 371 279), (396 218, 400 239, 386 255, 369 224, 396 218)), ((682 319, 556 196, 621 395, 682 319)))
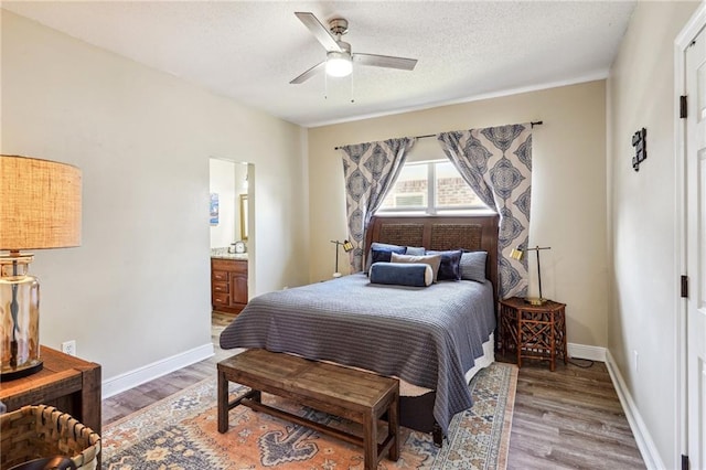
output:
POLYGON ((325 70, 330 76, 346 76, 353 71, 353 62, 374 67, 399 68, 403 71, 411 71, 415 68, 415 65, 417 65, 416 58, 376 54, 353 54, 351 52, 351 44, 341 41, 341 36, 349 31, 349 22, 343 18, 330 20, 329 28, 327 29, 313 13, 295 12, 295 14, 327 50, 327 60, 309 68, 289 82, 290 84, 298 85, 303 83, 323 70, 325 70))

